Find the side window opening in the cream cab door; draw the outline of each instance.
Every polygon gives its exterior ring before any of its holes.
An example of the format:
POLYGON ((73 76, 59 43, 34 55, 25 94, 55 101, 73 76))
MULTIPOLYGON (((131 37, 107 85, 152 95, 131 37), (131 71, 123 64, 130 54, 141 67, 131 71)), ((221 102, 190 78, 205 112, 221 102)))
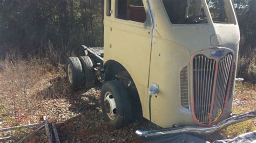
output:
POLYGON ((144 23, 146 11, 142 0, 117 0, 117 18, 144 23))

